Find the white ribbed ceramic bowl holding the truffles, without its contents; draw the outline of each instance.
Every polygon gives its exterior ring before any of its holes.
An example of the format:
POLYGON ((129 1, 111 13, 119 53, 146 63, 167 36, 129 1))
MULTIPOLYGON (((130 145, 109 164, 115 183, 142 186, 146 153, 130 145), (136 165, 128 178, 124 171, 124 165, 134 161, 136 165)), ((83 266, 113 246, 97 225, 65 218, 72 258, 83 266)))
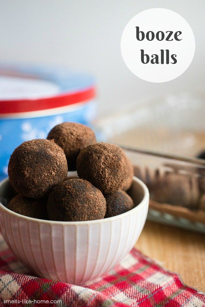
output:
POLYGON ((6 208, 8 179, 0 183, 0 226, 13 253, 35 274, 73 284, 103 275, 135 245, 148 212, 149 192, 134 177, 132 210, 107 219, 56 222, 22 216, 6 208), (3 204, 5 205, 3 205, 3 204))

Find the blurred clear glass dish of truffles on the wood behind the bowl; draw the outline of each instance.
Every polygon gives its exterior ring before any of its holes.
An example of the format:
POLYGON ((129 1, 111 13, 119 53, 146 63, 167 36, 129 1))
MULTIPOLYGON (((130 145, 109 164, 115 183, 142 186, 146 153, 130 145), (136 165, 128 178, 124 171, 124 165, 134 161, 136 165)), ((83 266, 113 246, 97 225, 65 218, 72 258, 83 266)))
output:
POLYGON ((205 161, 122 148, 148 186, 148 220, 205 232, 205 161))

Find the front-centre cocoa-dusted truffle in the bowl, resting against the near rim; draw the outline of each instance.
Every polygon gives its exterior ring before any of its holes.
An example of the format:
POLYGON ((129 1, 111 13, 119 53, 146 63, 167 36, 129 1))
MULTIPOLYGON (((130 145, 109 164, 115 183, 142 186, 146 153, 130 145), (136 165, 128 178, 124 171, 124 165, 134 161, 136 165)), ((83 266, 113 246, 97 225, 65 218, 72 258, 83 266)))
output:
POLYGON ((103 219, 106 201, 101 191, 83 179, 69 179, 58 185, 48 198, 48 216, 54 221, 103 219))

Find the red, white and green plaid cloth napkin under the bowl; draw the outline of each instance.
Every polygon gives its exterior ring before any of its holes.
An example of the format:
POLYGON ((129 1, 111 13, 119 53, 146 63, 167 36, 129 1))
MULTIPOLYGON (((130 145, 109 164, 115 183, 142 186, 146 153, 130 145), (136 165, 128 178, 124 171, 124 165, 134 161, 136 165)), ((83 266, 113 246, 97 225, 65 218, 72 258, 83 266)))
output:
POLYGON ((133 249, 102 278, 75 286, 29 276, 0 235, 0 306, 205 307, 205 294, 133 249))

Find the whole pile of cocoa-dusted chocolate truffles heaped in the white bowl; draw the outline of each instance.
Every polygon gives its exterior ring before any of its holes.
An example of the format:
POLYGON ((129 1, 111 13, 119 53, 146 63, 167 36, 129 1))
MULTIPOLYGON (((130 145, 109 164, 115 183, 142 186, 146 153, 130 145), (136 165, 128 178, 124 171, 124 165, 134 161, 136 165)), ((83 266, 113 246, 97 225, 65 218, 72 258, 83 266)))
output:
POLYGON ((123 150, 97 143, 89 127, 65 122, 55 126, 47 140, 18 146, 8 165, 10 183, 18 193, 8 208, 33 218, 86 221, 131 210, 127 191, 133 167, 123 150), (68 170, 79 178, 67 179, 68 170))

